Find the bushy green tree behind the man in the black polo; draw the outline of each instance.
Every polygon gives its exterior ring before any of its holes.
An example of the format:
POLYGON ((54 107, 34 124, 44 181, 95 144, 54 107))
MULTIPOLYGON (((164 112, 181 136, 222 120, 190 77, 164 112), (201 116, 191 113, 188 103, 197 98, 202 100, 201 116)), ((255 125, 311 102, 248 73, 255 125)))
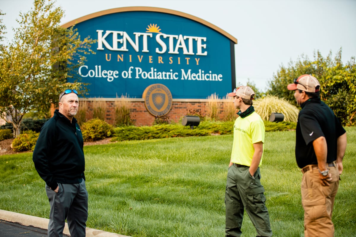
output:
POLYGON ((302 55, 295 63, 290 61, 288 67, 283 65, 268 82, 268 94, 286 98, 296 104, 293 93, 287 85, 303 74, 311 74, 320 82, 320 98, 333 109, 344 125, 356 124, 356 64, 355 57, 344 66, 341 61, 341 48, 333 58, 331 51, 324 58, 318 51, 314 52, 314 60, 302 55))

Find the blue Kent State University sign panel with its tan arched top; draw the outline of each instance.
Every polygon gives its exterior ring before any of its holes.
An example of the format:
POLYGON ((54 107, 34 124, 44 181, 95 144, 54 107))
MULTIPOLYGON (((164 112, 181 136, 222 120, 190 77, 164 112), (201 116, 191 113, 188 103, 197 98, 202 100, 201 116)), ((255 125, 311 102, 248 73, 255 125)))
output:
POLYGON ((197 17, 127 7, 82 18, 63 27, 79 22, 80 36, 97 41, 91 47, 96 54, 85 55, 77 71, 90 84, 89 97, 142 98, 147 86, 163 84, 173 98, 206 99, 235 87, 236 39, 197 17))

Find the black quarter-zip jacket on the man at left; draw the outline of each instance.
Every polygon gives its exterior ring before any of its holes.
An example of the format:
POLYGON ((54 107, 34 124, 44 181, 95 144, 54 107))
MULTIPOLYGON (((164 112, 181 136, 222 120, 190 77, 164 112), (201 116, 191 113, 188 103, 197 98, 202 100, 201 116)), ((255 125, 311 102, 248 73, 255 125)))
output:
POLYGON ((33 150, 32 160, 40 177, 52 189, 57 183, 81 183, 85 160, 83 136, 75 118, 72 123, 58 109, 45 124, 33 150))

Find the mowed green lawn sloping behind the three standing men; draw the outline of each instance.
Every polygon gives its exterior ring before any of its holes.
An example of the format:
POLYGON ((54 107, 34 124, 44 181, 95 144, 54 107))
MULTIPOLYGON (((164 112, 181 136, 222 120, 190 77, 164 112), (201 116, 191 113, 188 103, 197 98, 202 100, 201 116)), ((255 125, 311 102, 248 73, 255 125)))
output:
MULTIPOLYGON (((356 236, 356 127, 346 128, 335 236, 356 236)), ((266 133, 261 167, 274 236, 304 236, 295 131, 266 133)), ((85 146, 87 226, 133 237, 225 236, 225 183, 232 135, 85 146)), ((0 209, 48 218, 32 153, 0 156, 0 209)), ((0 217, 1 219, 1 217, 0 217)), ((247 214, 243 236, 256 232, 247 214)))

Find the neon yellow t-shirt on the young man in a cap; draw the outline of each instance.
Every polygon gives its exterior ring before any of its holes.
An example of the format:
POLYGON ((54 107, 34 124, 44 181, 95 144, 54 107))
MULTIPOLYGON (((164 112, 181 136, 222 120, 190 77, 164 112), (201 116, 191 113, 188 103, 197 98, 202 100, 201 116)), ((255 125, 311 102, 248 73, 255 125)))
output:
MULTIPOLYGON (((245 118, 238 117, 234 123, 234 143, 232 144, 231 162, 251 166, 255 152, 253 143, 263 142, 265 145, 265 124, 256 112, 245 118)), ((263 157, 263 154, 262 154, 263 157)), ((262 157, 260 165, 262 165, 262 157)))

